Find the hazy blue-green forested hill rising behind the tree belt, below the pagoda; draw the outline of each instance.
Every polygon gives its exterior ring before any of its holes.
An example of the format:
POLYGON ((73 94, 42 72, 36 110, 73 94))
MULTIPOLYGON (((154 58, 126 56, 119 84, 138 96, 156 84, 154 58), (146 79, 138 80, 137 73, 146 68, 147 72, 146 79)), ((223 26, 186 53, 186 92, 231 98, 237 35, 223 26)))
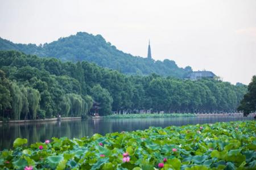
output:
MULTIPOLYGON (((26 54, 40 57, 55 57, 61 61, 88 61, 101 67, 118 70, 125 74, 149 75, 156 73, 163 76, 182 78, 190 73, 191 67, 180 68, 174 61, 154 61, 142 57, 134 57, 115 48, 106 42, 101 35, 93 36, 85 32, 60 38, 49 44, 36 46, 35 44, 14 44, 0 38, 0 50, 19 50, 26 54)), ((145 49, 146 52, 146 49, 145 49)))

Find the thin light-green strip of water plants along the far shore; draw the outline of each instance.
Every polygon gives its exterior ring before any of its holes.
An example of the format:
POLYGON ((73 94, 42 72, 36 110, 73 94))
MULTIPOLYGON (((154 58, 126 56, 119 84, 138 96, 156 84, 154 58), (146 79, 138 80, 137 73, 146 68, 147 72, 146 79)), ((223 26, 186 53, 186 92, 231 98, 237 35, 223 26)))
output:
POLYGON ((111 114, 104 118, 165 118, 165 117, 195 117, 192 113, 143 113, 143 114, 111 114))

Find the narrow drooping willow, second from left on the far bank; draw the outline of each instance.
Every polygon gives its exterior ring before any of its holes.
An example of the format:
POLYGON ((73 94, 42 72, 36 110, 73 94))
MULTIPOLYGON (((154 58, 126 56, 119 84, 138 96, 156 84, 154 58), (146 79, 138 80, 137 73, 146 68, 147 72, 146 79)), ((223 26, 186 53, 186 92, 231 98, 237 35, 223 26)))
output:
POLYGON ((32 119, 36 119, 36 111, 39 108, 39 101, 40 101, 40 93, 38 90, 35 90, 34 88, 28 87, 27 89, 27 100, 29 103, 29 111, 30 111, 30 117, 32 116, 32 119), (32 115, 31 115, 32 114, 32 115))

